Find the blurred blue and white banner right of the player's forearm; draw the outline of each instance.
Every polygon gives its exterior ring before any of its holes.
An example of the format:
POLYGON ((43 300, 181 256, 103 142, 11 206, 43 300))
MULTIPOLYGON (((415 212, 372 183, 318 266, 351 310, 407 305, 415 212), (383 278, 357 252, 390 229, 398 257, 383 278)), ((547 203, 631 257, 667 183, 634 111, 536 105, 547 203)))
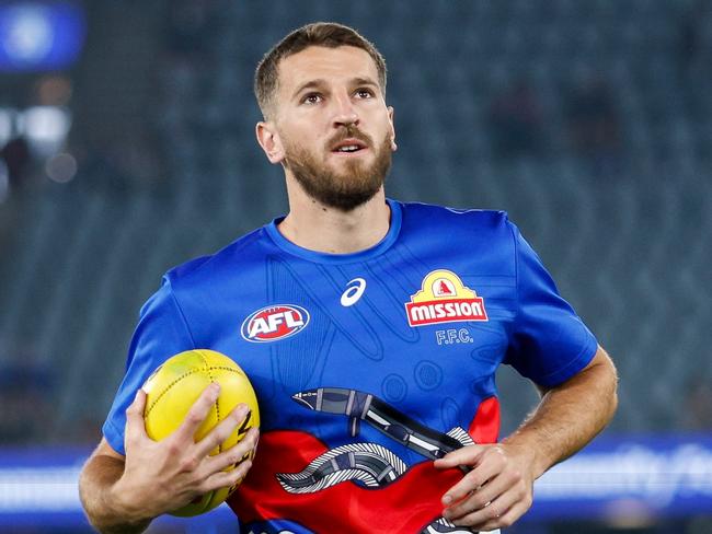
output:
POLYGON ((712 434, 661 433, 595 440, 537 481, 528 516, 633 524, 710 510, 712 434))

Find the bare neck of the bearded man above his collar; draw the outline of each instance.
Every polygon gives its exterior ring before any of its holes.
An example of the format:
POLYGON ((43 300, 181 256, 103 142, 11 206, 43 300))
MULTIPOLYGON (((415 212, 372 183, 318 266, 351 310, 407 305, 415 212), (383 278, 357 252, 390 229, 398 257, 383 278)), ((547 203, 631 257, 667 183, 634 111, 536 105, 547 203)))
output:
POLYGON ((388 233, 390 208, 383 188, 348 212, 323 206, 302 190, 292 189, 288 185, 289 214, 278 229, 296 245, 329 254, 351 254, 376 245, 388 233))

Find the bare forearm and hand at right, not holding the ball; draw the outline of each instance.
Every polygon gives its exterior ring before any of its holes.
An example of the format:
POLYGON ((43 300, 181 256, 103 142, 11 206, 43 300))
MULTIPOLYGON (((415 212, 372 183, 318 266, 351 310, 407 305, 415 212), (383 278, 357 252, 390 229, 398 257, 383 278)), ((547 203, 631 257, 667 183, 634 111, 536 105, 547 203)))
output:
POLYGON ((512 525, 531 506, 533 481, 588 443, 618 405, 613 362, 598 347, 579 373, 542 388, 541 402, 502 443, 471 445, 435 462, 436 467, 472 467, 445 496, 444 516, 457 525, 490 531, 512 525))

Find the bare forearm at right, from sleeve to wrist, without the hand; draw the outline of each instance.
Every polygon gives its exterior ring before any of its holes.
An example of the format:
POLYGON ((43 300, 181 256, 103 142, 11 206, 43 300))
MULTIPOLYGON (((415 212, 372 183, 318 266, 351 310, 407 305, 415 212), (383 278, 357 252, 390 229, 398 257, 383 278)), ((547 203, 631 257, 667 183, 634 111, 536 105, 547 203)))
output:
POLYGON ((548 390, 537 409, 503 442, 535 451, 535 477, 541 476, 606 427, 618 405, 617 384, 616 368, 599 347, 585 370, 548 390))

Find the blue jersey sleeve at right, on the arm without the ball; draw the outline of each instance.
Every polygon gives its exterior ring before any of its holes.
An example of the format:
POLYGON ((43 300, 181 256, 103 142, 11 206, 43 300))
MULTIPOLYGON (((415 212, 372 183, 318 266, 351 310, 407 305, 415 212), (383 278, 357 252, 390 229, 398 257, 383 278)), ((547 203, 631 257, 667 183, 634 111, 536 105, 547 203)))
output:
POLYGON ((559 294, 537 253, 514 224, 512 229, 517 315, 504 362, 539 385, 554 386, 584 369, 598 343, 559 294))

